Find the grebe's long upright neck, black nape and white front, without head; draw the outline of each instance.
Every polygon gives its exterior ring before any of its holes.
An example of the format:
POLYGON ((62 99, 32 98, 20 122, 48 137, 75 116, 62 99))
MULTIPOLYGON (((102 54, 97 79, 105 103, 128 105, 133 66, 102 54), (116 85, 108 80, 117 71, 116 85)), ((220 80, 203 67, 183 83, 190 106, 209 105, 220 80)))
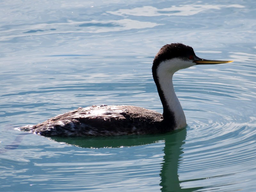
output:
POLYGON ((172 76, 177 70, 175 65, 170 70, 171 64, 173 65, 173 60, 172 63, 170 60, 162 61, 155 68, 153 65, 152 72, 160 100, 163 104, 164 121, 169 124, 171 130, 174 130, 185 127, 187 123, 184 111, 172 84, 172 76))

